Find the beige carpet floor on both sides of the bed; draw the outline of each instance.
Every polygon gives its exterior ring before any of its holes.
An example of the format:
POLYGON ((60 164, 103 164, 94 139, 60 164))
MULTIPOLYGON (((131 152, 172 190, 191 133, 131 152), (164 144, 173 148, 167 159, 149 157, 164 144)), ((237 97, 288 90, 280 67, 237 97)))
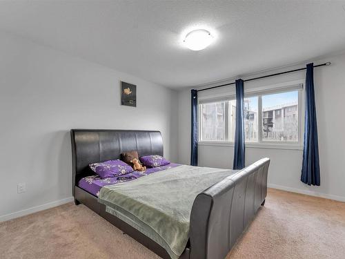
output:
MULTIPOLYGON (((0 258, 158 258, 83 205, 0 223, 0 258)), ((270 189, 229 258, 345 258, 345 203, 270 189)))

